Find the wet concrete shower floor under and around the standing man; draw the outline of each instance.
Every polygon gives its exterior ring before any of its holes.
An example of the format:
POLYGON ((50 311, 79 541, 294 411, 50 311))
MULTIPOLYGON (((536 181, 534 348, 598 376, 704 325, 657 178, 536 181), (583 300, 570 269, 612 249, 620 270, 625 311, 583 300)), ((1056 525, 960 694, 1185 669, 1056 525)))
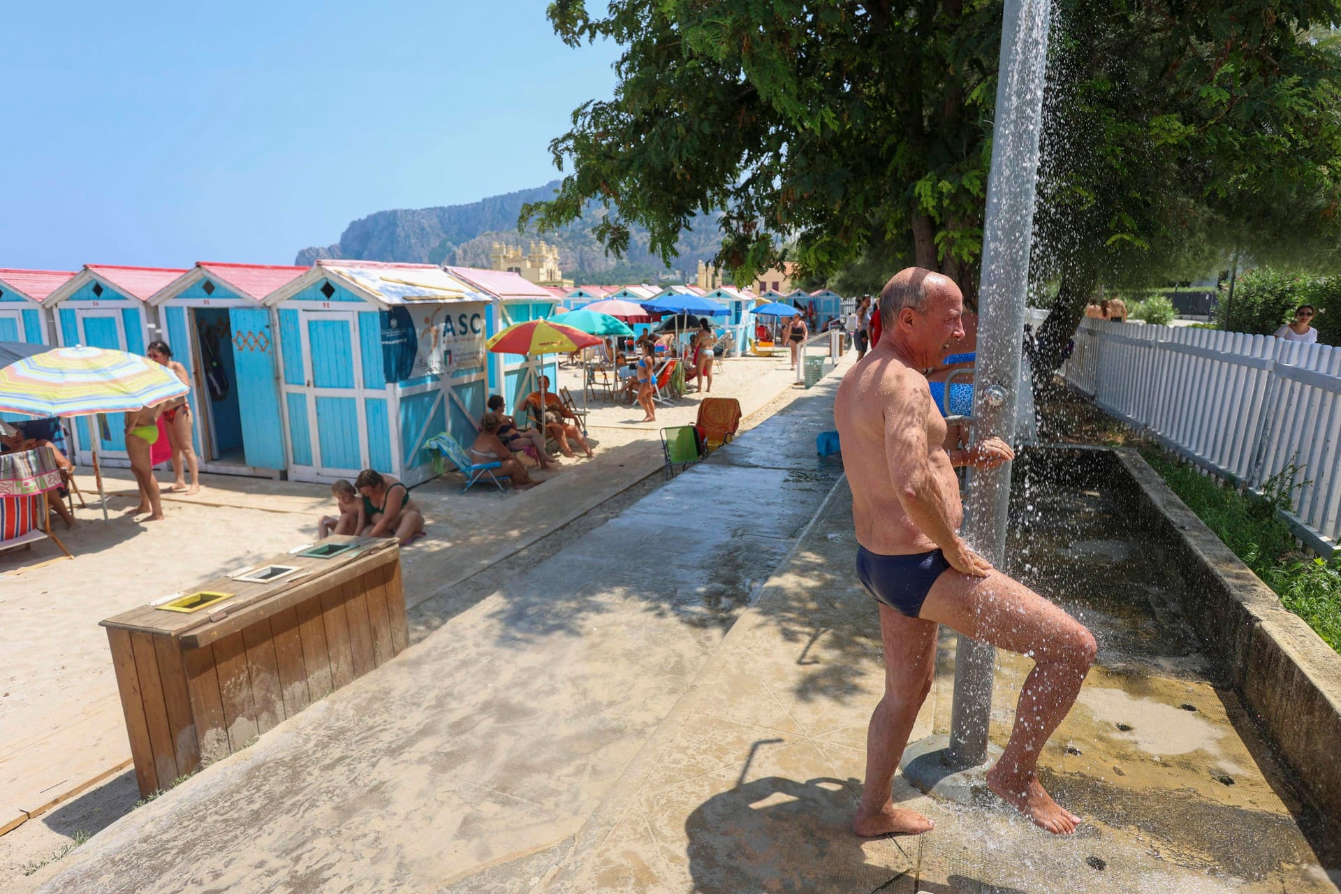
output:
MULTIPOLYGON (((1086 823, 1038 830, 982 792, 972 807, 894 781, 936 830, 862 840, 849 822, 882 690, 876 607, 850 574, 850 495, 815 527, 727 637, 699 684, 531 886, 555 891, 913 894, 1334 891, 1309 818, 1231 690, 1218 688, 1159 560, 1102 484, 1021 489, 1011 571, 1092 627, 1100 655, 1042 759, 1086 823)), ((953 637, 913 740, 948 729, 953 637)), ((1029 662, 998 663, 1003 744, 1029 662)), ((520 881, 520 879, 518 879, 520 881)), ((472 891, 471 885, 441 890, 472 891)))

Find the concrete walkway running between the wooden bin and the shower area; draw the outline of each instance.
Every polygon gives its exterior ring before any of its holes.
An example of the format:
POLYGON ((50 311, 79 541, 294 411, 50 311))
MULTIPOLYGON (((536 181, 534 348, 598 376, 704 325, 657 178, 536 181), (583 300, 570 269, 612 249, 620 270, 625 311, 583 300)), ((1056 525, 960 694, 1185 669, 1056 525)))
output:
POLYGON ((516 890, 566 854, 831 492, 841 466, 814 436, 835 387, 118 820, 43 890, 516 890))

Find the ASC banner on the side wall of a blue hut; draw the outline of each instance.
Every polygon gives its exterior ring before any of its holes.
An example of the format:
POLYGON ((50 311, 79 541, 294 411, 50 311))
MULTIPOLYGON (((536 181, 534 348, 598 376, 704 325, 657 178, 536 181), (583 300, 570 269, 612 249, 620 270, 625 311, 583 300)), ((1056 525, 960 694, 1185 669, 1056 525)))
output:
POLYGON ((484 369, 484 308, 425 304, 381 311, 388 382, 484 369))

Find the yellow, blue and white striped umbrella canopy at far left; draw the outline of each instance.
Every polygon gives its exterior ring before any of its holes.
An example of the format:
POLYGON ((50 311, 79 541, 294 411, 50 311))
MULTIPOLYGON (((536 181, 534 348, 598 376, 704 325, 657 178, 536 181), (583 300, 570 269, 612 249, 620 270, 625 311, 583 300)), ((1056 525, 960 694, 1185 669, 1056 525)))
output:
POLYGON ((0 411, 27 416, 125 413, 188 390, 148 357, 101 347, 56 347, 0 369, 0 411))

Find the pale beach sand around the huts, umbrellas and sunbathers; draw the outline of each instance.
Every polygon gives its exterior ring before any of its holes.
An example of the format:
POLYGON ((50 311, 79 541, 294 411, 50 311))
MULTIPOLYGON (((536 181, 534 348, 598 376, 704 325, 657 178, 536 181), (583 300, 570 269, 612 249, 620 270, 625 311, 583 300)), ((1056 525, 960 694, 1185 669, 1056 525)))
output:
MULTIPOLYGON (((818 343, 810 348, 811 355, 821 351, 818 343)), ((732 359, 720 366, 713 395, 740 399, 746 430, 802 393, 791 385, 786 359, 732 359)), ((577 377, 569 367, 559 373, 559 381, 574 391, 579 390, 577 377)), ((696 395, 670 402, 658 409, 660 424, 692 424, 697 406, 696 395)), ((544 487, 524 493, 473 488, 461 495, 455 473, 414 488, 430 524, 429 536, 402 559, 406 598, 412 609, 434 599, 439 606, 412 613, 412 642, 456 613, 439 609, 460 604, 461 580, 593 513, 660 468, 656 426, 626 425, 629 418, 641 418, 641 410, 593 403, 597 457, 565 460, 558 470, 538 476, 544 487)), ((160 480, 166 484, 169 478, 160 472, 160 480)), ((122 515, 135 501, 130 472, 107 469, 111 521, 103 523, 93 476, 79 481, 90 508, 78 509, 80 524, 74 531, 55 525, 74 562, 15 571, 59 555, 52 544, 0 556, 0 654, 5 657, 0 669, 0 834, 102 780, 114 780, 129 767, 125 720, 98 621, 304 543, 315 536, 316 519, 333 509, 325 485, 205 474, 198 495, 165 493, 166 521, 141 524, 122 515)), ((90 797, 97 816, 72 819, 70 831, 101 828, 110 822, 107 811, 129 807, 135 797, 102 800, 90 797)), ((63 836, 28 830, 30 843, 16 842, 13 834, 0 838, 0 887, 8 869, 50 854, 68 836, 68 831, 63 836)))

